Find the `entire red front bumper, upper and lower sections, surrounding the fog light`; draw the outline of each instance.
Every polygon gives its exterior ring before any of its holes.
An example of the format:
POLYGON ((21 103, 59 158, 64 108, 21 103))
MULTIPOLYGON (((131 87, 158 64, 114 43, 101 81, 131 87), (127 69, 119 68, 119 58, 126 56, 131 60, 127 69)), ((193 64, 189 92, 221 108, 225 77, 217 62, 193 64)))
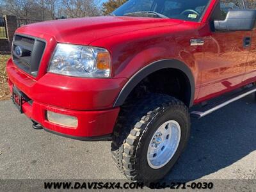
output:
POLYGON ((111 136, 120 110, 112 106, 125 79, 82 79, 45 74, 36 81, 20 71, 12 60, 8 61, 6 71, 11 92, 15 86, 33 100, 22 104, 22 111, 41 124, 45 131, 77 140, 107 140, 111 136), (46 111, 76 116, 78 125, 71 128, 53 124, 47 120, 46 111))

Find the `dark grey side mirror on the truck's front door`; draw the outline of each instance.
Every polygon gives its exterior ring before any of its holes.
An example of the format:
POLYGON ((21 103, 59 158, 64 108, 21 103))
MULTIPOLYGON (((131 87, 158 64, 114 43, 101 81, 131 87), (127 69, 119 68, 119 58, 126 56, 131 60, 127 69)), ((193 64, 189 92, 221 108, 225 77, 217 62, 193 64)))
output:
POLYGON ((225 20, 214 20, 216 31, 252 31, 256 10, 230 10, 225 20))

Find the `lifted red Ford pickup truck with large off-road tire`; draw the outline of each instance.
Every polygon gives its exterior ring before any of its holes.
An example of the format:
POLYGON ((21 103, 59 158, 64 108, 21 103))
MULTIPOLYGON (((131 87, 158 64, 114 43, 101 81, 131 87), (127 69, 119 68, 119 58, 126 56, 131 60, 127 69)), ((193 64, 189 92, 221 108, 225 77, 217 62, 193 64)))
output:
POLYGON ((106 17, 23 26, 6 68, 13 103, 35 129, 111 140, 127 178, 159 180, 186 146, 190 116, 256 91, 246 4, 130 0, 106 17))

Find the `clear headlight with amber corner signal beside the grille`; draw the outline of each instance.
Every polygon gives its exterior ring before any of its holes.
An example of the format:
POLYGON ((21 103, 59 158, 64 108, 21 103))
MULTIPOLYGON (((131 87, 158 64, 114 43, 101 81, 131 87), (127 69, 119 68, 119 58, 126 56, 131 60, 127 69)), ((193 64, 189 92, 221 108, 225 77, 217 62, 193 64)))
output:
POLYGON ((110 54, 106 49, 58 44, 48 71, 75 77, 110 77, 110 63, 110 54))

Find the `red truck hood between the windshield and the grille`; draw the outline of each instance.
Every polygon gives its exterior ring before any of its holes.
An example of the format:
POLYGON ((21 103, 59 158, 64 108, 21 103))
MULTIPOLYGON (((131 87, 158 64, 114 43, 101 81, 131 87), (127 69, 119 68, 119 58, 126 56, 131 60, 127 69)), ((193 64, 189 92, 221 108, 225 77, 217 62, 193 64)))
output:
POLYGON ((53 36, 57 42, 89 45, 107 36, 128 33, 148 28, 173 26, 184 21, 176 19, 154 19, 147 17, 86 17, 77 19, 51 20, 29 24, 17 29, 16 33, 33 35, 33 32, 53 36))

